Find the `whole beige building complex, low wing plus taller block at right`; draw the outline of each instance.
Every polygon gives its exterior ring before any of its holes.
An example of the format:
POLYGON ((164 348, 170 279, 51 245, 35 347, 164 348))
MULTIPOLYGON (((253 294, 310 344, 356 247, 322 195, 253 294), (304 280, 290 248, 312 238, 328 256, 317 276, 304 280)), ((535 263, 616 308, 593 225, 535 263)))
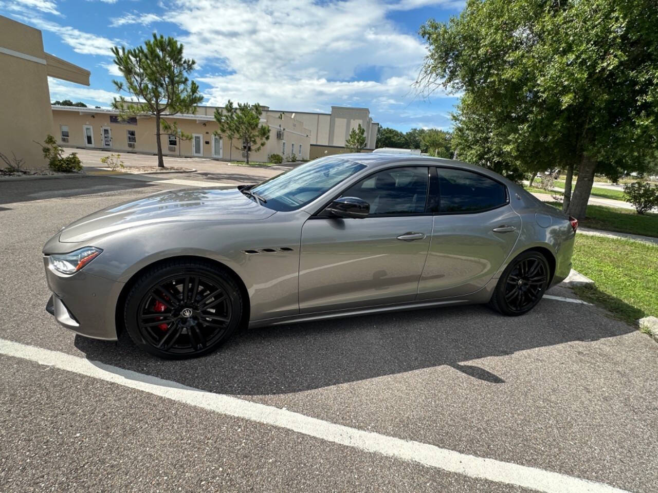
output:
MULTIPOLYGON (((115 110, 52 106, 55 138, 64 146, 105 149, 120 153, 157 153, 155 120, 138 116, 124 122, 115 110)), ((215 135, 215 106, 197 106, 195 114, 165 118, 191 135, 182 140, 176 135, 161 136, 165 155, 205 157, 243 161, 240 141, 228 142, 226 135, 215 135)), ((249 154, 249 160, 266 162, 270 154, 290 160, 315 159, 328 154, 345 153, 349 131, 359 124, 366 129, 366 149, 376 143, 378 124, 372 122, 367 108, 332 106, 330 114, 270 110, 263 106, 261 123, 270 127, 270 139, 263 149, 249 154)))

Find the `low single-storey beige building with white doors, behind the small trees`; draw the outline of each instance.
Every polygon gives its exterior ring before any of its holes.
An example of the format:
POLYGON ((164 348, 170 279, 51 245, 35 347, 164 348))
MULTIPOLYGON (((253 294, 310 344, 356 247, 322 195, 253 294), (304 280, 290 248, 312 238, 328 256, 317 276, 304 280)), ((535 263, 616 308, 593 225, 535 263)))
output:
MULTIPOLYGON (((178 114, 164 118, 176 122, 182 133, 191 139, 162 134, 164 155, 205 157, 222 160, 245 160, 241 142, 231 143, 226 135, 215 135, 215 108, 199 106, 195 114, 178 114)), ((52 106, 55 138, 69 147, 105 149, 119 153, 157 153, 155 118, 138 116, 122 121, 115 110, 52 106)), ((258 152, 249 153, 249 160, 266 162, 270 154, 309 159, 311 130, 289 114, 263 112, 261 123, 270 127, 270 139, 258 152)))

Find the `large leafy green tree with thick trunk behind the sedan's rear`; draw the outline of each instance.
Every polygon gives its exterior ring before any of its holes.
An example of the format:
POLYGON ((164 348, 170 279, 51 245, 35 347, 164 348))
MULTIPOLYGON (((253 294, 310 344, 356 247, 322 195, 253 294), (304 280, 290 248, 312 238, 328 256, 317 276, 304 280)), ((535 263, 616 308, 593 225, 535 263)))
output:
POLYGON ((656 26, 655 0, 468 0, 447 24, 420 28, 429 51, 418 89, 463 93, 457 141, 462 122, 484 115, 478 139, 489 135, 502 162, 565 168, 563 208, 582 219, 595 173, 655 162, 656 26))

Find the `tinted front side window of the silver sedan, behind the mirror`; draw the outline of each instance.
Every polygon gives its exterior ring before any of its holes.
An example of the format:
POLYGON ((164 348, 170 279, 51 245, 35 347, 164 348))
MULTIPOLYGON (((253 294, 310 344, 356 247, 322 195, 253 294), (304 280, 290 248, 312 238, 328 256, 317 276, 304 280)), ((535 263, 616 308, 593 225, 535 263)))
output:
POLYGON ((393 168, 359 181, 343 197, 359 197, 370 204, 370 216, 422 214, 427 195, 427 168, 393 168))

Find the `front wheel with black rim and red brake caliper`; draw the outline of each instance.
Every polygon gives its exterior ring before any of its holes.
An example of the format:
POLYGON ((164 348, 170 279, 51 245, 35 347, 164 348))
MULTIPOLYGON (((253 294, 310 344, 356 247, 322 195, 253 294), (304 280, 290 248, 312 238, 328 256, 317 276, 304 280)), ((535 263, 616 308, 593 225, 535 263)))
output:
POLYGON ((124 307, 130 339, 168 360, 213 352, 233 335, 242 317, 242 296, 232 275, 203 261, 153 266, 139 276, 124 307))

